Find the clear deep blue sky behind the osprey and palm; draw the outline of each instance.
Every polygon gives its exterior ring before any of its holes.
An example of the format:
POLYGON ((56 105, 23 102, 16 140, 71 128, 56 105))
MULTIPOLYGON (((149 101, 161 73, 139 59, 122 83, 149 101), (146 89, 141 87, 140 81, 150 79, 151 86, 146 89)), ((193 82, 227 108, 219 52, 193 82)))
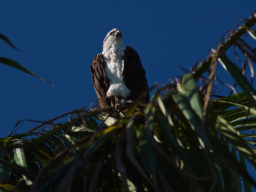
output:
MULTIPOLYGON (((0 64, 1 131, 17 119, 47 120, 96 100, 89 66, 111 29, 140 55, 148 85, 168 83, 204 59, 231 27, 256 10, 255 0, 0 1, 1 57, 14 59, 55 84, 0 64)), ((225 77, 223 76, 225 79, 225 77)), ((25 122, 18 133, 37 123, 25 122)))

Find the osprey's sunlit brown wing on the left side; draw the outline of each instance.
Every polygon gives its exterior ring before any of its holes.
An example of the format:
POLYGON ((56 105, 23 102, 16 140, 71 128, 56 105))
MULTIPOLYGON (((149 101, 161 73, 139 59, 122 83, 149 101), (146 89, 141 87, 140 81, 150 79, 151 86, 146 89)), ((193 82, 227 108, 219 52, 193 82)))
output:
POLYGON ((111 101, 106 97, 106 92, 109 90, 109 79, 105 74, 105 62, 102 54, 97 54, 90 66, 93 78, 93 87, 98 97, 98 107, 107 108, 111 106, 111 101))

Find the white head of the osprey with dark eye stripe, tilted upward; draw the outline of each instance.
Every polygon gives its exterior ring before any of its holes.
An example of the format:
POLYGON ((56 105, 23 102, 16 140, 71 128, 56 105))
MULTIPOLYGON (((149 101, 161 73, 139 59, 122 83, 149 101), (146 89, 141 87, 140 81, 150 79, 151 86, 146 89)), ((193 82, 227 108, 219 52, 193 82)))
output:
POLYGON ((112 29, 103 40, 103 50, 114 45, 123 45, 122 33, 120 29, 112 29))

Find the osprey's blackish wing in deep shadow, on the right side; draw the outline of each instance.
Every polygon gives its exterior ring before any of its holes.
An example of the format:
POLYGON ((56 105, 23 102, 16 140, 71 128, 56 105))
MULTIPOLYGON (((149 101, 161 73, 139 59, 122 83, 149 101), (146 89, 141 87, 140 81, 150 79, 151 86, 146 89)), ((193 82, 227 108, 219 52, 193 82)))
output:
MULTIPOLYGON (((126 100, 135 101, 144 91, 148 90, 146 72, 142 67, 140 57, 137 51, 130 46, 127 46, 124 51, 123 77, 126 87, 132 91, 126 100)), ((148 93, 142 100, 148 103, 150 94, 148 93)))

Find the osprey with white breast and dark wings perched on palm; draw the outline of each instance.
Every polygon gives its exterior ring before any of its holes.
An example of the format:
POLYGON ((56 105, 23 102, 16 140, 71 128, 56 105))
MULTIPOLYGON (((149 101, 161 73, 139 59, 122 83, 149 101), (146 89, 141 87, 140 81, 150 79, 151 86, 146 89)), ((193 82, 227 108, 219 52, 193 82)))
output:
MULTIPOLYGON (((103 40, 103 51, 90 66, 99 108, 111 106, 115 99, 135 101, 148 90, 146 72, 138 53, 125 47, 120 29, 112 29, 103 40)), ((148 103, 147 93, 142 102, 148 103)))

